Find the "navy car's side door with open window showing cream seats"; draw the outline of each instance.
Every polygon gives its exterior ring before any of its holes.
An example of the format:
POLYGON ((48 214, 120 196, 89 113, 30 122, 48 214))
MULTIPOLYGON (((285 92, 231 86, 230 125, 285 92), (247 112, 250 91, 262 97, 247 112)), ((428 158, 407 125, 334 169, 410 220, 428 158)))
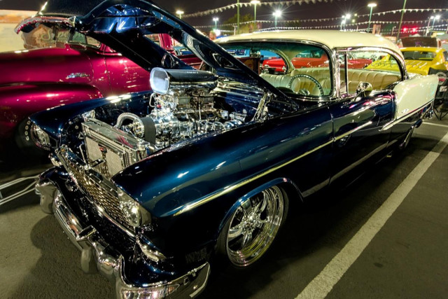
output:
POLYGON ((347 55, 342 55, 340 98, 330 105, 335 140, 331 181, 387 147, 391 130, 381 128, 393 120, 395 112, 395 95, 388 85, 401 79, 400 74, 351 68, 345 63, 347 55), (358 85, 364 86, 358 89, 358 85))

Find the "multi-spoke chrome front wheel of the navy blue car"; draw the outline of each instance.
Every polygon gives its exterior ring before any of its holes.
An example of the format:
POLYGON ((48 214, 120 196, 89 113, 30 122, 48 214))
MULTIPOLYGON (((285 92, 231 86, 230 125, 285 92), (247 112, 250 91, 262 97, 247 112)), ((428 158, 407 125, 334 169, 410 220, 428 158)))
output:
POLYGON ((225 250, 230 262, 245 267, 258 260, 274 241, 285 210, 283 192, 276 186, 238 207, 226 226, 225 250))

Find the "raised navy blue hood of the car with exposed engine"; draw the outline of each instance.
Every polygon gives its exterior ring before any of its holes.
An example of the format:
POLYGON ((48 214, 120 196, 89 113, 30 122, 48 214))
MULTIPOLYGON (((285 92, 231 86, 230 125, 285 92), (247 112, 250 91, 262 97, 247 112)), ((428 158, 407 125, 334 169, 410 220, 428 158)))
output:
POLYGON ((16 27, 16 32, 29 32, 45 22, 57 22, 92 36, 144 69, 192 69, 146 38, 149 34, 169 34, 215 69, 218 76, 258 85, 282 96, 279 90, 262 80, 221 46, 151 1, 48 0, 36 16, 22 21, 16 27))

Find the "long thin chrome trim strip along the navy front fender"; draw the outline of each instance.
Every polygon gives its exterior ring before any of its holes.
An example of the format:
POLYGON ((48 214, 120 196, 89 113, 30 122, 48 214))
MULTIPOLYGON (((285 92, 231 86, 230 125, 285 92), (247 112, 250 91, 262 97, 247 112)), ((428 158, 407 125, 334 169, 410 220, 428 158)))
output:
MULTIPOLYGON (((356 130, 359 130, 359 129, 360 129, 360 127, 356 128, 356 130)), ((352 130, 352 131, 354 132, 354 130, 352 130)), ((349 134, 351 134, 351 133, 349 133, 349 134)), ((293 159, 291 159, 291 160, 289 160, 287 162, 284 162, 281 165, 277 165, 275 167, 267 169, 265 172, 261 172, 260 174, 257 174, 255 176, 252 176, 251 178, 245 179, 244 181, 236 183, 235 185, 223 188, 222 190, 220 190, 220 191, 218 191, 218 192, 216 192, 214 194, 211 194, 211 195, 209 195, 207 197, 204 197, 204 198, 202 198, 200 200, 197 200, 196 202, 193 202, 191 204, 186 204, 181 209, 179 209, 179 211, 176 211, 176 213, 174 213, 174 216, 183 214, 184 212, 190 211, 190 209, 194 209, 195 207, 199 207, 202 204, 206 204, 207 202, 209 202, 211 200, 214 200, 216 197, 219 197, 221 195, 225 195, 227 193, 230 193, 231 191, 236 190, 237 188, 239 188, 241 186, 247 185, 248 183, 251 183, 251 182, 253 182, 253 181, 257 180, 257 179, 260 179, 260 177, 262 177, 262 176, 265 176, 267 174, 275 172, 277 169, 285 167, 286 165, 290 165, 291 163, 299 160, 300 158, 303 158, 303 157, 309 155, 310 153, 314 153, 315 151, 318 151, 319 149, 332 144, 334 141, 335 141, 335 139, 332 138, 332 139, 330 139, 330 141, 327 141, 324 144, 321 144, 320 146, 317 146, 316 148, 313 148, 310 151, 307 151, 306 153, 302 153, 302 155, 299 155, 299 156, 297 156, 297 157, 295 157, 295 158, 293 158, 293 159)))

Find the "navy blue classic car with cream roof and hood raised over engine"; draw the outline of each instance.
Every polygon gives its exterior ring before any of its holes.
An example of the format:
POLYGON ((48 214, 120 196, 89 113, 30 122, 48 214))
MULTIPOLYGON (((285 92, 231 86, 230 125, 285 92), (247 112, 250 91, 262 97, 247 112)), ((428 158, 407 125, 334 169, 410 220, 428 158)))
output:
POLYGON ((41 207, 82 251, 85 272, 116 280, 119 298, 194 297, 211 258, 257 262, 290 202, 404 148, 437 88, 437 76, 409 78, 400 50, 372 34, 265 32, 217 44, 139 0, 48 1, 23 30, 45 20, 151 69, 151 91, 31 116, 32 137, 55 165, 36 185, 41 207), (201 69, 148 38, 161 33, 201 69), (293 58, 310 50, 328 61, 295 69, 293 58), (263 69, 261 53, 285 67, 263 69), (399 71, 356 69, 349 53, 391 55, 399 71))

